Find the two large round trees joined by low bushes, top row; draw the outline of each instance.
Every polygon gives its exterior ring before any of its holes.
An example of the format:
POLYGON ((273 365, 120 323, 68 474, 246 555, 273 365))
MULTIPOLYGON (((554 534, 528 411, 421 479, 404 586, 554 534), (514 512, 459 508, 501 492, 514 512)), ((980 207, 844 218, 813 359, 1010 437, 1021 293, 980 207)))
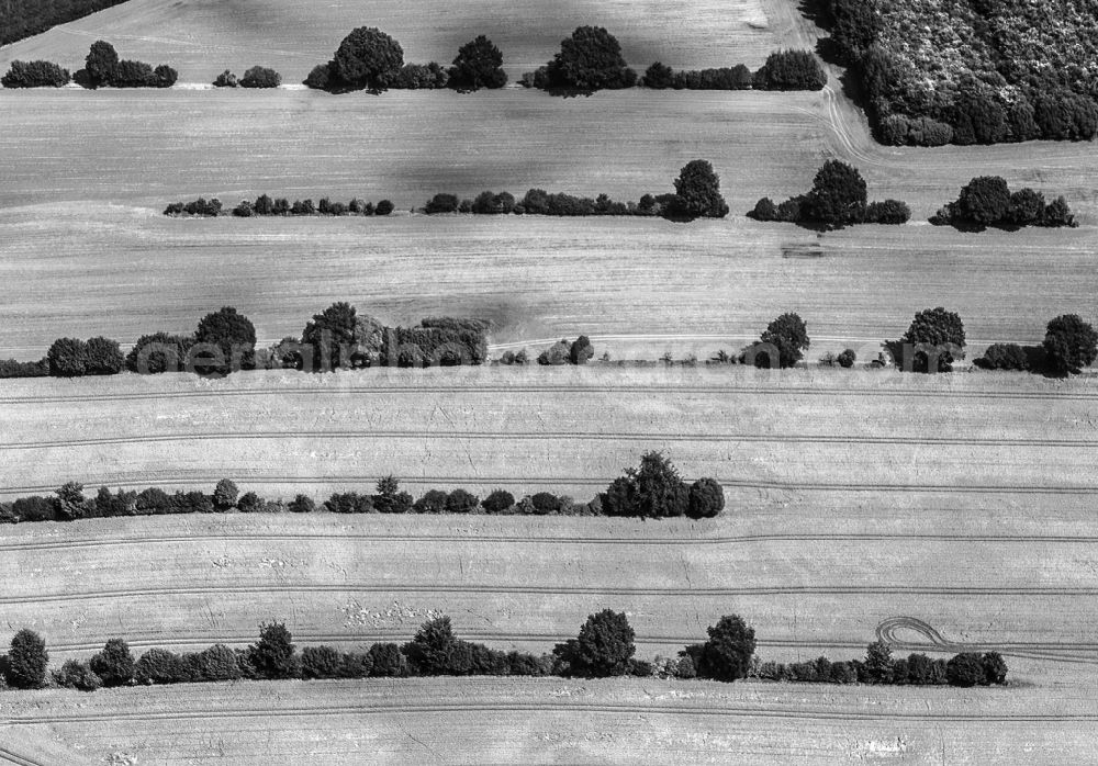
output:
POLYGON ((405 64, 400 43, 377 27, 360 26, 339 43, 330 61, 309 74, 305 85, 330 92, 379 93, 388 88, 475 91, 507 85, 502 64, 500 48, 484 35, 462 45, 448 69, 435 61, 405 64))

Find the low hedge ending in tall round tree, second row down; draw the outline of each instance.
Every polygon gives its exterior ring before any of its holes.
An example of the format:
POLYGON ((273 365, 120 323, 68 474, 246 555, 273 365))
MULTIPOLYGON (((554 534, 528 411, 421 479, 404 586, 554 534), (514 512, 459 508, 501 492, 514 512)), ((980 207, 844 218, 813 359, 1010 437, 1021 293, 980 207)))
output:
POLYGON ((728 215, 728 203, 720 194, 720 177, 708 160, 687 162, 674 181, 673 194, 653 196, 645 194, 639 203, 615 202, 606 194, 597 199, 550 194, 544 189, 530 189, 522 201, 509 192, 482 192, 475 200, 460 200, 457 194, 435 194, 423 206, 427 215, 447 213, 472 215, 641 215, 663 216, 673 221, 694 218, 722 218, 728 215))

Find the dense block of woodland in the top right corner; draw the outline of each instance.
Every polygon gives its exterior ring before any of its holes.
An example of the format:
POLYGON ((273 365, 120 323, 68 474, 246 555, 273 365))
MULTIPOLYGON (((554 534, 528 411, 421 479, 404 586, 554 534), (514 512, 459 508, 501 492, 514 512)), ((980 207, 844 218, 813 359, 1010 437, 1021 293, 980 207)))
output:
POLYGON ((1098 133, 1098 21, 1083 0, 820 0, 885 144, 941 146, 1098 133), (1035 34, 1034 31, 1040 31, 1035 34))

